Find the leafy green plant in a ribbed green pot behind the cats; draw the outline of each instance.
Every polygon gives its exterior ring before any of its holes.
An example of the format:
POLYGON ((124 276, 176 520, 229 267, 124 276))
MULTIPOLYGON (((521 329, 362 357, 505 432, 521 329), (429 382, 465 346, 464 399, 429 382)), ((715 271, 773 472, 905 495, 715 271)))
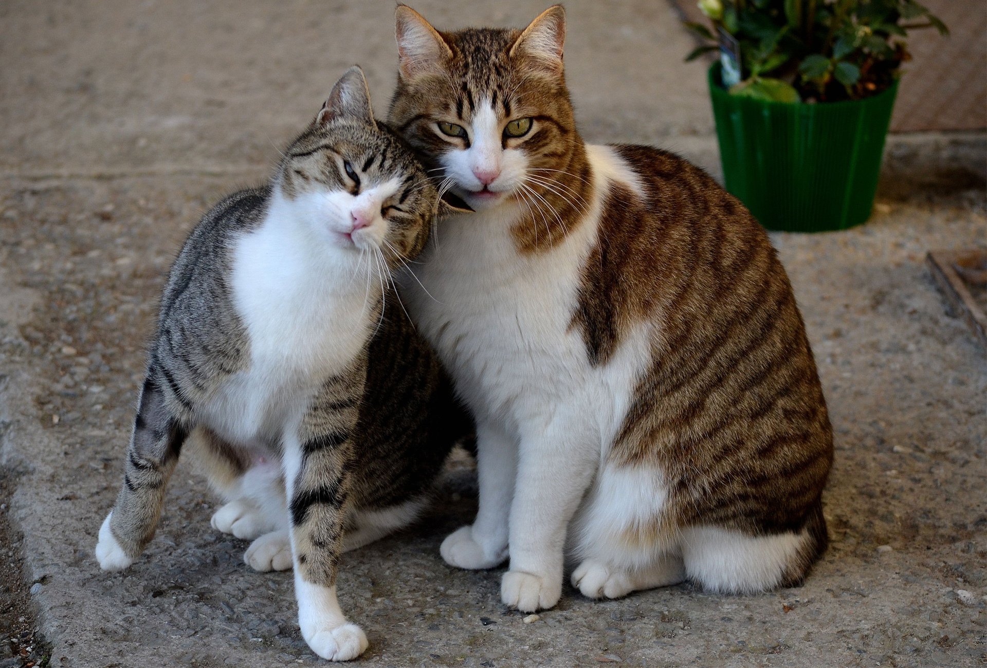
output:
MULTIPOLYGON (((942 21, 914 0, 700 0, 720 50, 710 95, 726 188, 772 230, 871 215, 908 31, 942 21)), ((712 43, 711 43, 712 42, 712 43)))

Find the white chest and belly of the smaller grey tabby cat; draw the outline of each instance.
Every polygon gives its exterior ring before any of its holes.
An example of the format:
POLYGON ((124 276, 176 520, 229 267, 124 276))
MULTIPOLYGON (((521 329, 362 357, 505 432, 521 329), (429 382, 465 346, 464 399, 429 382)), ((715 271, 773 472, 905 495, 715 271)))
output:
POLYGON ((233 249, 233 301, 250 362, 205 409, 205 421, 233 442, 260 446, 297 424, 313 395, 362 350, 370 311, 361 290, 314 263, 273 226, 233 249))

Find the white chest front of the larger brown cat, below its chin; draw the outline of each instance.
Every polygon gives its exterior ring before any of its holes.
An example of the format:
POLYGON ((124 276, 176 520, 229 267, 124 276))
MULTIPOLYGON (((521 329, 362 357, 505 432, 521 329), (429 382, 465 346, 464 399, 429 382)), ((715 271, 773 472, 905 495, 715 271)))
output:
POLYGON ((583 240, 528 259, 508 234, 483 213, 447 221, 415 265, 420 285, 406 283, 412 315, 460 392, 475 410, 516 420, 563 401, 592 370, 569 327, 583 240))

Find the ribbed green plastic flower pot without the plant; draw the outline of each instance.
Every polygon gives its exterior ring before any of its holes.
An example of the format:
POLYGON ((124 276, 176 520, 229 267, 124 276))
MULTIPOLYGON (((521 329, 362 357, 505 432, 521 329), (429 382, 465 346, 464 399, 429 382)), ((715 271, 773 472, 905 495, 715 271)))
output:
POLYGON ((871 216, 898 83, 871 98, 806 105, 728 94, 709 73, 726 189, 764 227, 844 230, 871 216))

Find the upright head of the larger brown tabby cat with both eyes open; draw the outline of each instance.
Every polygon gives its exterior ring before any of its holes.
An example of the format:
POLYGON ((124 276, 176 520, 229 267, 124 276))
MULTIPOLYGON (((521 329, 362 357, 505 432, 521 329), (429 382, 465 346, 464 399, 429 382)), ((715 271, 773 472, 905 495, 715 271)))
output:
POLYGON ((569 171, 581 141, 563 71, 561 5, 523 31, 452 33, 399 5, 396 37, 390 121, 472 207, 534 201, 531 190, 569 171))

